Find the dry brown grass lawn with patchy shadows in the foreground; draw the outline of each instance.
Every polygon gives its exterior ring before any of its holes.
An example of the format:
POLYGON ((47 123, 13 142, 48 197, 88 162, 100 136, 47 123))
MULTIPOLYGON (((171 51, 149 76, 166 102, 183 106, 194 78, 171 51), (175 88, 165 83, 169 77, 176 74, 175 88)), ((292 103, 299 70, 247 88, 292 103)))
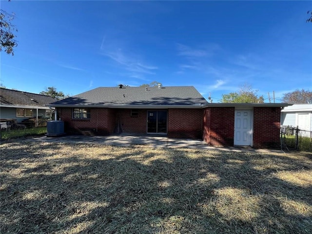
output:
POLYGON ((1 233, 312 233, 312 155, 13 142, 1 233))

